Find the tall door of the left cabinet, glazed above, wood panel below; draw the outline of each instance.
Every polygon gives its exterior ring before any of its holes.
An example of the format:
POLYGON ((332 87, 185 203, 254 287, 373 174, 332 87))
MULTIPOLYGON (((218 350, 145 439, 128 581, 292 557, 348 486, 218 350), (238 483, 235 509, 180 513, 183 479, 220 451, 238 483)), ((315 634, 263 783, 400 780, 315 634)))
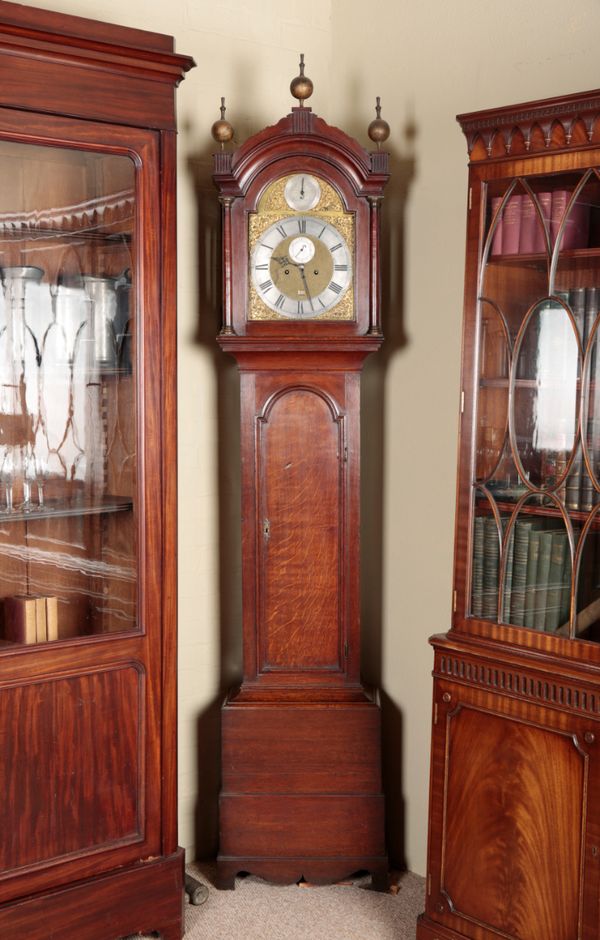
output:
POLYGON ((0 115, 0 902, 159 855, 162 824, 158 135, 23 121, 0 115))

